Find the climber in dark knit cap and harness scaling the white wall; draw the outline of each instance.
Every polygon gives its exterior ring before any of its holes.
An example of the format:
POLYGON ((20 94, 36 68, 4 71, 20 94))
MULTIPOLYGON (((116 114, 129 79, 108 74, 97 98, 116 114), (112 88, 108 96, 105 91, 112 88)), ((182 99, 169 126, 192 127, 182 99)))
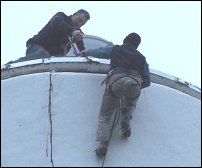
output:
POLYGON ((149 64, 137 50, 140 42, 141 37, 137 33, 130 33, 122 45, 108 45, 80 52, 80 56, 110 59, 111 69, 105 78, 106 89, 99 114, 97 141, 100 141, 100 145, 96 149, 97 156, 106 155, 112 130, 111 116, 120 101, 122 135, 130 137, 130 120, 141 89, 151 84, 149 64))

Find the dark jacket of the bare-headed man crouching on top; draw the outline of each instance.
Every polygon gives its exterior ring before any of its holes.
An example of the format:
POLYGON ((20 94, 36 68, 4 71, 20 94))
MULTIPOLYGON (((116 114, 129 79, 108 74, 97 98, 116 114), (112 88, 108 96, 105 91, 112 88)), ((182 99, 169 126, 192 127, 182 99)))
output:
MULTIPOLYGON (((38 44, 43 46, 50 55, 64 55, 63 47, 69 42, 68 36, 71 37, 74 31, 71 16, 63 12, 56 13, 37 35, 27 41, 26 46, 38 44)), ((77 45, 81 51, 85 49, 83 41, 77 42, 77 45)))

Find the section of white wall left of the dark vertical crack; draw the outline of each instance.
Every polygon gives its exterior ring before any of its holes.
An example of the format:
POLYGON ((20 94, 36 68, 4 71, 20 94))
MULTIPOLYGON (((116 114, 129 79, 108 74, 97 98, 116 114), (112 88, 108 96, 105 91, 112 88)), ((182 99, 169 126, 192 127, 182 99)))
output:
POLYGON ((24 75, 1 84, 1 164, 50 166, 49 74, 24 75))

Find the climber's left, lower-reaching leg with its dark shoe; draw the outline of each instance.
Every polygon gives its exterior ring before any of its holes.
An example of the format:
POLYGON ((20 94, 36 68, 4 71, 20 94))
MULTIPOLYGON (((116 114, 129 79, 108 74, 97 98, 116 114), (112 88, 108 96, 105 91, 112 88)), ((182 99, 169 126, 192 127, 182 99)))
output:
POLYGON ((123 87, 123 80, 119 79, 120 76, 117 77, 110 79, 110 85, 108 85, 103 96, 97 130, 97 140, 101 141, 100 146, 96 149, 96 154, 98 156, 104 156, 106 154, 112 129, 111 116, 119 106, 120 99, 125 90, 123 87))

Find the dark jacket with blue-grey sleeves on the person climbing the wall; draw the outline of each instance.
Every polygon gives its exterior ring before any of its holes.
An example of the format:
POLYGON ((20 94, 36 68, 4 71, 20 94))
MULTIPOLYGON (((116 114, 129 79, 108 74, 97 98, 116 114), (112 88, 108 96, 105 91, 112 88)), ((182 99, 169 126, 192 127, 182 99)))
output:
POLYGON ((121 71, 128 73, 130 70, 139 72, 143 80, 141 88, 148 87, 151 84, 149 64, 146 58, 131 44, 89 49, 87 54, 96 58, 110 59, 111 70, 115 70, 115 73, 121 71))

